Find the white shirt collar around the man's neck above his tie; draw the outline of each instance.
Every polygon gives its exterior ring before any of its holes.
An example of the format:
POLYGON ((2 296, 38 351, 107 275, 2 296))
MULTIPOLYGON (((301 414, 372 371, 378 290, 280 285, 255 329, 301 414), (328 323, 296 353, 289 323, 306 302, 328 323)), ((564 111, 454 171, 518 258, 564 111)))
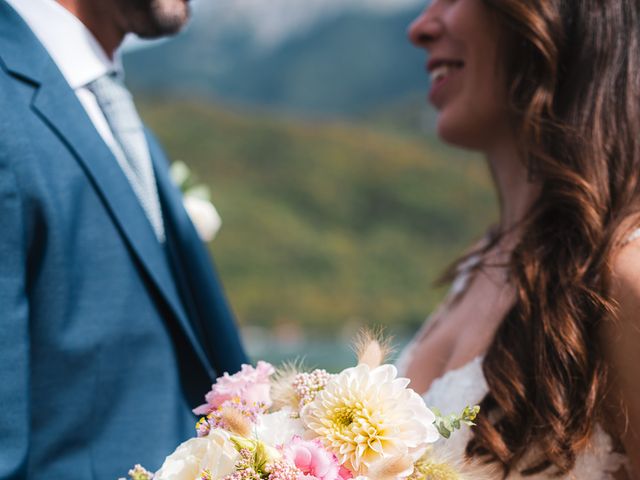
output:
POLYGON ((110 60, 89 31, 55 0, 6 0, 29 25, 74 90, 109 73, 122 74, 119 52, 110 60))

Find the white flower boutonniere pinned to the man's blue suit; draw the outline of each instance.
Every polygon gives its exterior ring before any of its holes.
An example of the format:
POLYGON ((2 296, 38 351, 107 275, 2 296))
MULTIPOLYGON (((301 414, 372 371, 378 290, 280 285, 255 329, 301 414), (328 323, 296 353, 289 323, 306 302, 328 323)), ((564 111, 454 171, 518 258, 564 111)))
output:
POLYGON ((191 169, 184 162, 173 162, 170 174, 182 191, 184 208, 198 235, 205 243, 212 241, 222 226, 222 219, 211 203, 209 187, 196 183, 191 169))

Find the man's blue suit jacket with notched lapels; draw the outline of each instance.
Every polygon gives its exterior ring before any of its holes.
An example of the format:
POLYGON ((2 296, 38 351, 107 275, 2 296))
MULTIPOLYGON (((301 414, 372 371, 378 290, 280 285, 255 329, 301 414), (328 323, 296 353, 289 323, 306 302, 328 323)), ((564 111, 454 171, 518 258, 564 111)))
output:
POLYGON ((62 74, 0 0, 0 479, 115 480, 194 434, 245 361, 149 135, 168 241, 62 74))

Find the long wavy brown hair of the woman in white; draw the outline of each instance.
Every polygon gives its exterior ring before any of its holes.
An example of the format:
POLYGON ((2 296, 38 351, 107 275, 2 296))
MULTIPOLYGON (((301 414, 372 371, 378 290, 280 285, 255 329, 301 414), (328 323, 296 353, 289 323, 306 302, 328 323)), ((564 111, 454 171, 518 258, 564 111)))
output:
POLYGON ((516 301, 484 360, 490 393, 467 454, 505 475, 564 473, 605 420, 610 265, 640 225, 640 12, 636 0, 484 2, 508 37, 510 103, 542 192, 510 260, 516 301))

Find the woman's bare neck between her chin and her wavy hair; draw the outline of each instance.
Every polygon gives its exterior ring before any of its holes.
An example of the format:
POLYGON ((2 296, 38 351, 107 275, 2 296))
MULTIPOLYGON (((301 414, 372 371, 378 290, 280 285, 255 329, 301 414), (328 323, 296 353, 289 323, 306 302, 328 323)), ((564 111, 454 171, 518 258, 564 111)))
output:
POLYGON ((500 202, 500 232, 515 233, 540 194, 540 184, 530 178, 515 139, 494 146, 487 160, 500 202))

